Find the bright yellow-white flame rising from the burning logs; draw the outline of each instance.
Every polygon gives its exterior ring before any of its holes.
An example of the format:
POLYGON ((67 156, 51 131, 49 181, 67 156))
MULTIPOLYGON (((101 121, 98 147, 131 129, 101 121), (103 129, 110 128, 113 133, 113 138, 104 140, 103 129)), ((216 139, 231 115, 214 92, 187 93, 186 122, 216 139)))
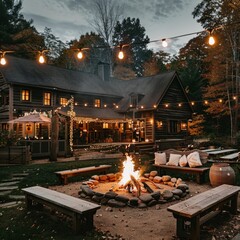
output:
POLYGON ((132 161, 132 157, 127 156, 127 159, 123 162, 122 179, 119 182, 119 185, 122 186, 125 185, 128 181, 131 181, 131 175, 136 179, 139 179, 140 171, 134 171, 134 163, 132 161))

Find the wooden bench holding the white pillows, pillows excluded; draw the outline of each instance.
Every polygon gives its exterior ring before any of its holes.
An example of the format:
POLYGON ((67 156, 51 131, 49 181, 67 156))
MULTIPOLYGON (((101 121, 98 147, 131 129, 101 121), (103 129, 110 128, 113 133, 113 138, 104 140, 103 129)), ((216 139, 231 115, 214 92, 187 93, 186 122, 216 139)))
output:
POLYGON ((159 174, 163 175, 166 173, 166 170, 175 171, 175 172, 182 172, 182 173, 189 173, 191 175, 196 176, 196 182, 198 184, 204 183, 205 175, 209 173, 210 167, 180 167, 180 166, 169 166, 169 165, 157 165, 153 164, 154 167, 159 169, 159 174))

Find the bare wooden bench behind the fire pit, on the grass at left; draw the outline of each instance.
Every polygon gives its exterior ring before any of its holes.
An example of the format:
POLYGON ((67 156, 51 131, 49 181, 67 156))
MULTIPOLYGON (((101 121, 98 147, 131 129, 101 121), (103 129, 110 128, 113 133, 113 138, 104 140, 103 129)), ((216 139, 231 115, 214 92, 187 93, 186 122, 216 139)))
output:
POLYGON ((89 173, 89 172, 106 172, 111 167, 112 165, 91 166, 91 167, 58 171, 58 172, 55 172, 55 174, 59 177, 62 184, 67 184, 69 177, 74 177, 79 174, 89 173))

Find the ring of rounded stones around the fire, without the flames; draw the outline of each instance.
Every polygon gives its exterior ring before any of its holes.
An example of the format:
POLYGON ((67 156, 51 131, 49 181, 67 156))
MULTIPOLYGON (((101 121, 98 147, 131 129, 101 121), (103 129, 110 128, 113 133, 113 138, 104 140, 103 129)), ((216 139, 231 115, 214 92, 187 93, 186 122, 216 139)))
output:
POLYGON ((139 197, 128 198, 125 195, 117 194, 113 190, 106 193, 94 191, 94 188, 104 182, 114 182, 120 179, 120 173, 109 173, 106 175, 93 175, 89 181, 83 182, 80 186, 79 197, 92 200, 100 205, 108 205, 110 207, 123 208, 129 207, 151 207, 157 204, 179 200, 189 193, 189 187, 180 178, 171 178, 168 175, 158 176, 157 171, 145 173, 142 181, 152 181, 159 185, 168 185, 175 187, 174 190, 154 191, 152 193, 144 193, 139 197))

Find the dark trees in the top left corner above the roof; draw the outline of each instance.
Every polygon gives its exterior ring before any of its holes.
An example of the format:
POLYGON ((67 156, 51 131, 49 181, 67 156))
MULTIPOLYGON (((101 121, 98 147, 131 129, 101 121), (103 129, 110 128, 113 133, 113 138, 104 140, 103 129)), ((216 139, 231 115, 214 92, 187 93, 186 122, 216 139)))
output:
POLYGON ((0 46, 2 50, 13 50, 15 55, 33 58, 44 40, 20 13, 21 0, 0 0, 0 46))

